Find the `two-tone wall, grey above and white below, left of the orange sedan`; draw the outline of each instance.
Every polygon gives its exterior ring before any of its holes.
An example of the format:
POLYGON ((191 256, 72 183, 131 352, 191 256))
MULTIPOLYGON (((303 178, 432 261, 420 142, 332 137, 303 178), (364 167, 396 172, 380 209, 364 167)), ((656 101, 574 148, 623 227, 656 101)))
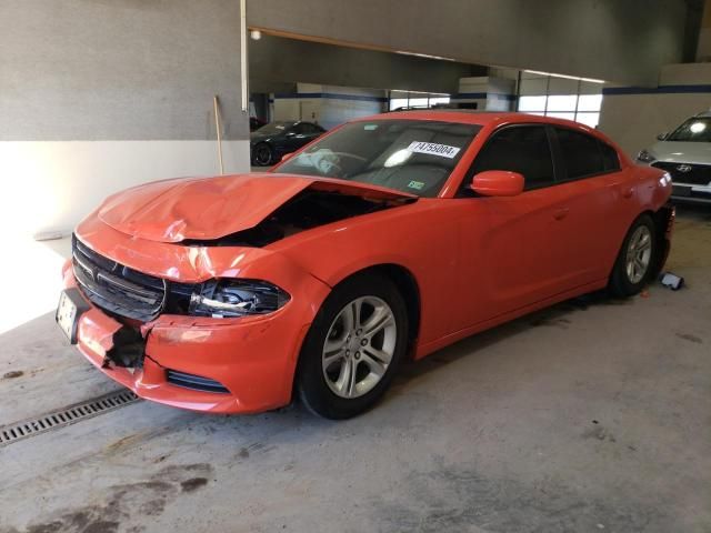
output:
POLYGON ((0 223, 70 230, 107 194, 249 168, 239 2, 0 1, 0 223), (19 200, 20 199, 20 200, 19 200))

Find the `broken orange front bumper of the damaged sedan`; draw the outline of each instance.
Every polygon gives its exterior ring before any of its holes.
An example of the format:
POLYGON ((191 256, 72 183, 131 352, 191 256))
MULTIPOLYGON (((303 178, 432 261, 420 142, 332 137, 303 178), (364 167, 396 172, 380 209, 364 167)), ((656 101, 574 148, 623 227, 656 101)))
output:
MULTIPOLYGON (((77 286, 70 263, 64 288, 77 286)), ((90 305, 79 320, 78 348, 101 372, 140 398, 211 413, 254 413, 287 405, 301 343, 313 302, 327 285, 313 280, 281 310, 264 316, 203 319, 161 315, 142 324, 142 365, 112 364, 107 354, 117 349, 123 323, 90 305), (169 382, 169 370, 220 383, 224 392, 187 389, 169 382)))

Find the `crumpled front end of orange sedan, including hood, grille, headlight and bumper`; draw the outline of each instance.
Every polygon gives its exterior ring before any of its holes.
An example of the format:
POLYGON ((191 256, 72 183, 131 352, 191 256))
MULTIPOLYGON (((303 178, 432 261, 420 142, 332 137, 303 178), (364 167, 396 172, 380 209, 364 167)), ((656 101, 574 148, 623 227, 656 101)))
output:
POLYGON ((64 290, 91 304, 77 321, 84 356, 139 396, 174 406, 247 413, 287 404, 303 338, 331 288, 269 244, 417 198, 272 179, 266 189, 241 177, 159 183, 82 221, 63 275, 64 290), (251 209, 280 183, 289 194, 278 204, 251 209), (209 214, 186 198, 194 191, 209 214))

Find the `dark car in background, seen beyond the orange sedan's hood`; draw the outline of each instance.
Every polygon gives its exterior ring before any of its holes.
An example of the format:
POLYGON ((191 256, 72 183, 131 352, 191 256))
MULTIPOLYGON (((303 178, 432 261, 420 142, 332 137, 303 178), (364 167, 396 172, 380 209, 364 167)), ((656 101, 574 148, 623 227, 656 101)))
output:
POLYGON ((296 152, 324 131, 313 122, 271 122, 251 133, 252 164, 269 167, 278 163, 284 154, 296 152))

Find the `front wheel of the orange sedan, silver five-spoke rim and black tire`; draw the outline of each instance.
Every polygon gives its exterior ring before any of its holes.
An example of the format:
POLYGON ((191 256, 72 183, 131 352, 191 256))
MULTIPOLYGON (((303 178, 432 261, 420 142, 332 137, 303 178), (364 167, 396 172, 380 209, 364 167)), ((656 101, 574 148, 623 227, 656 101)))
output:
POLYGON ((405 354, 408 325, 404 300, 387 278, 360 274, 338 285, 301 350, 296 383, 301 402, 332 420, 371 409, 405 354))

